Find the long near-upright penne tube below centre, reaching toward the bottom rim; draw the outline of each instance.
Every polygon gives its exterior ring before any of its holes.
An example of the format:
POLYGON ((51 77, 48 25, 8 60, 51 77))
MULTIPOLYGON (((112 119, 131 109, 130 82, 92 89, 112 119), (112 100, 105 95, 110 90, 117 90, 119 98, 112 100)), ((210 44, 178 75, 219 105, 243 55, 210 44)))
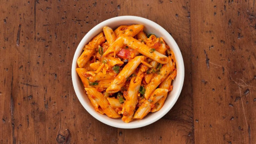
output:
POLYGON ((138 102, 138 91, 140 90, 142 78, 143 78, 143 73, 142 71, 139 71, 137 74, 137 77, 133 77, 129 84, 128 96, 125 97, 126 100, 124 102, 124 107, 122 110, 122 114, 123 114, 122 120, 125 123, 129 123, 132 121, 136 104, 138 102))

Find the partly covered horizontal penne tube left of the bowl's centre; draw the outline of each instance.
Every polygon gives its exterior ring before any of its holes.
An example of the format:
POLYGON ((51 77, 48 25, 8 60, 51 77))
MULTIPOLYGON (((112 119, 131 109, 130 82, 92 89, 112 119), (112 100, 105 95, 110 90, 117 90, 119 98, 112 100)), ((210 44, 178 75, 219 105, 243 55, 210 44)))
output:
POLYGON ((95 74, 93 71, 88 71, 88 72, 86 73, 86 75, 88 75, 89 81, 95 82, 95 81, 113 79, 115 73, 109 72, 109 73, 107 73, 107 74, 104 74, 104 73, 102 73, 102 72, 99 72, 99 73, 95 74))

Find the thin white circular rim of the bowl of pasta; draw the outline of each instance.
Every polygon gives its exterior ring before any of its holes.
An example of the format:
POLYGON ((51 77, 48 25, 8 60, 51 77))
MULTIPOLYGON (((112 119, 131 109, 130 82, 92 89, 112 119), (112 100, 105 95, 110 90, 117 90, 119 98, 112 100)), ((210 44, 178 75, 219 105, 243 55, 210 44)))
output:
MULTIPOLYGON (((90 39, 91 40, 91 39, 90 39)), ((89 41, 88 41, 89 42, 89 41)), ((168 44, 169 45, 169 44, 168 44)), ((83 105, 84 109, 86 109, 86 111, 91 114, 95 119, 99 120, 100 122, 110 125, 112 127, 116 127, 116 128, 125 128, 125 129, 132 129, 132 128, 140 128, 140 127, 145 127, 146 125, 152 124, 154 122, 156 122, 157 120, 159 120, 160 118, 162 118, 165 114, 168 113, 168 111, 170 111, 170 109, 172 109, 172 107, 174 106, 174 104, 176 103, 176 101, 178 100, 179 95, 181 94, 181 90, 183 87, 183 82, 184 82, 184 77, 185 77, 185 67, 184 67, 184 62, 183 62, 183 57, 181 54, 181 51, 179 50, 179 47, 176 43, 176 41, 173 39, 173 37, 168 33, 167 30, 165 30, 163 27, 161 27, 159 24, 156 24, 156 22, 151 21, 149 19, 145 19, 143 17, 138 17, 138 16, 118 16, 118 17, 113 17, 111 19, 107 19, 105 21, 100 22, 99 24, 97 24, 96 26, 94 26, 91 30, 88 31, 88 33, 86 35, 84 35, 83 39, 79 42, 77 49, 75 50, 74 53, 74 57, 73 57, 73 61, 72 61, 72 66, 71 66, 71 78, 72 78, 72 82, 73 82, 73 87, 75 90, 75 94, 78 97, 78 100, 80 102, 80 104, 83 105), (158 111, 157 113, 159 113, 158 115, 155 116, 155 118, 147 120, 146 122, 143 122, 143 119, 140 120, 140 122, 138 123, 115 123, 115 122, 111 122, 111 120, 107 120, 107 119, 102 119, 100 116, 98 116, 95 110, 91 111, 89 110, 89 107, 91 107, 91 105, 87 105, 86 102, 84 102, 83 100, 83 95, 85 93, 80 93, 78 87, 78 80, 80 79, 76 79, 76 68, 77 68, 77 58, 78 56, 81 54, 82 52, 82 48, 84 47, 84 44, 86 44, 86 40, 91 37, 93 35, 93 37, 95 37, 95 31, 97 31, 100 28, 103 28, 104 26, 108 25, 108 24, 112 24, 113 22, 118 22, 118 21, 122 21, 122 20, 132 20, 132 21, 138 21, 143 23, 147 23, 151 26, 153 26, 155 29, 157 28, 158 31, 160 31, 161 34, 165 35, 166 37, 168 37, 170 43, 172 43, 172 49, 176 49, 176 53, 175 53, 175 57, 176 57, 176 61, 178 58, 178 68, 179 68, 179 75, 181 75, 181 80, 177 81, 179 82, 179 87, 177 87, 177 92, 176 95, 173 96, 173 100, 170 101, 169 106, 167 107, 166 110, 164 111, 158 111)), ((168 94, 169 95, 169 94, 168 94)), ((111 118, 112 119, 112 118, 111 118)))

